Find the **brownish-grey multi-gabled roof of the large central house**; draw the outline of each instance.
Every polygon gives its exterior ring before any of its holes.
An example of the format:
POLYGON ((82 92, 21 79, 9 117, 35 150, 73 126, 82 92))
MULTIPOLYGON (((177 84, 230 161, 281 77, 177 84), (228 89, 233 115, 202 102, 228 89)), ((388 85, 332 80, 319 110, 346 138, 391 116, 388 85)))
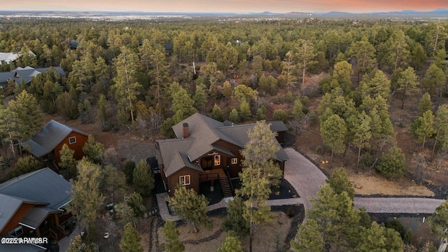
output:
MULTIPOLYGON (((267 123, 271 124, 270 128, 272 131, 281 132, 288 130, 281 121, 267 123)), ((244 148, 248 142, 247 132, 255 125, 255 123, 246 125, 221 123, 208 116, 195 113, 172 127, 176 134, 176 139, 157 140, 159 146, 158 155, 161 157, 161 160, 158 160, 159 165, 164 165, 166 176, 178 172, 183 167, 203 172, 200 165, 193 161, 211 151, 219 151, 229 156, 235 156, 236 153, 218 146, 216 141, 223 140, 239 146, 239 148, 244 148), (188 123, 189 136, 186 139, 182 138, 183 123, 188 123)), ((288 156, 283 151, 283 148, 280 148, 276 153, 276 159, 279 161, 288 160, 288 156)))

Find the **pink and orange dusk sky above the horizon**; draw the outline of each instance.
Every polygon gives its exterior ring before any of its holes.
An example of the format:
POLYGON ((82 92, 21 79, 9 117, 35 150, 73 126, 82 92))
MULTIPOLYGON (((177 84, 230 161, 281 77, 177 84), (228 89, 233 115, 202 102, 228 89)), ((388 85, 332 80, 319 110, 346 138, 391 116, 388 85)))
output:
POLYGON ((448 8, 448 0, 0 0, 0 10, 276 13, 346 11, 365 13, 448 8))

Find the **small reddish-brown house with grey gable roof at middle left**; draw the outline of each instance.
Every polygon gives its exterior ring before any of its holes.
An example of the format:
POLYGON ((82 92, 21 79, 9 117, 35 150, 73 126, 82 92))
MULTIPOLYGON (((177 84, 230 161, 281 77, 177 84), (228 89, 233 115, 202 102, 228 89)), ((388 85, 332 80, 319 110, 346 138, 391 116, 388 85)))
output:
POLYGON ((36 158, 40 158, 46 164, 57 166, 61 161, 59 152, 64 144, 75 151, 73 158, 80 160, 84 156, 83 146, 87 139, 88 135, 86 133, 55 120, 50 120, 41 131, 25 141, 23 145, 36 158))

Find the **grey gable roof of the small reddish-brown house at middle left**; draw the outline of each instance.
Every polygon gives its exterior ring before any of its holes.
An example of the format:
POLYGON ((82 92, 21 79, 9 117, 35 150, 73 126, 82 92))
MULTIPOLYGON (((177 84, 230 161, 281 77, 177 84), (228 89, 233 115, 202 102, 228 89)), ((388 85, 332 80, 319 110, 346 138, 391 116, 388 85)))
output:
POLYGON ((50 120, 50 122, 48 122, 41 131, 31 137, 31 139, 25 141, 23 144, 30 147, 30 153, 37 158, 41 158, 43 155, 47 155, 54 150, 55 147, 71 132, 88 136, 86 133, 73 127, 64 125, 55 120, 50 120))

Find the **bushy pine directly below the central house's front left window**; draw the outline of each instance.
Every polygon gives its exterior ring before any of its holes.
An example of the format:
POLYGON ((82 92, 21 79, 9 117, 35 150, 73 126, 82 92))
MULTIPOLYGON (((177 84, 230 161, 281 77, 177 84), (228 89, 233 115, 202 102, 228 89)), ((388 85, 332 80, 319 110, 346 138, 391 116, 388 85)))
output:
POLYGON ((204 195, 198 195, 195 190, 178 185, 174 196, 167 198, 167 201, 169 208, 181 219, 193 225, 194 232, 199 232, 197 228, 199 225, 211 226, 207 217, 209 201, 204 195))

